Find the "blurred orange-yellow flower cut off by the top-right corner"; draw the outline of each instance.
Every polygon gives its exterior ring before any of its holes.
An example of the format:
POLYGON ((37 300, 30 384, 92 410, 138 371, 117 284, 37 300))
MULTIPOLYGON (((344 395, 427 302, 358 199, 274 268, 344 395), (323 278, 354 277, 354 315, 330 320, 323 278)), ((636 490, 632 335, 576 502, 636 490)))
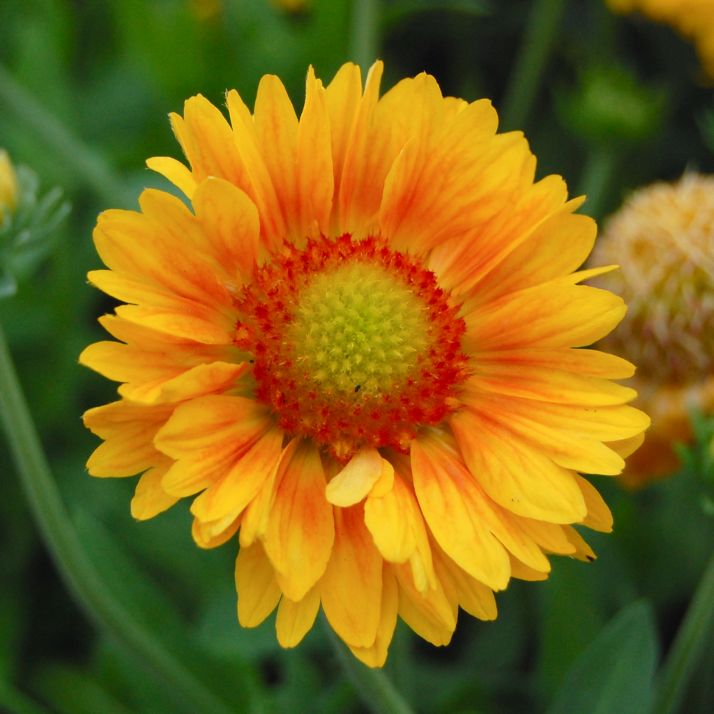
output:
POLYGON ((712 0, 606 0, 626 14, 639 10, 655 22, 673 26, 693 41, 706 73, 714 77, 714 2, 712 0))

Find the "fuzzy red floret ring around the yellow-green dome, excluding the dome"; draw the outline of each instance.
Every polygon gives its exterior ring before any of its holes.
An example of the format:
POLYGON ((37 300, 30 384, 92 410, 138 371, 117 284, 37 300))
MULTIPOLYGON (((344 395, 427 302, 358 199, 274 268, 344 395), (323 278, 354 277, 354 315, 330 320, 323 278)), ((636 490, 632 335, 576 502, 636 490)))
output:
POLYGON ((340 461, 359 446, 391 446, 408 452, 420 426, 436 426, 458 406, 459 388, 468 376, 461 351, 466 324, 458 306, 439 288, 436 277, 413 257, 391 251, 377 237, 353 241, 346 234, 310 239, 306 248, 283 253, 253 269, 251 283, 237 299, 241 320, 236 345, 253 356, 255 396, 268 404, 278 425, 291 436, 309 436, 340 461), (323 389, 291 341, 302 291, 319 274, 348 262, 381 266, 423 303, 426 347, 414 367, 381 393, 323 389))

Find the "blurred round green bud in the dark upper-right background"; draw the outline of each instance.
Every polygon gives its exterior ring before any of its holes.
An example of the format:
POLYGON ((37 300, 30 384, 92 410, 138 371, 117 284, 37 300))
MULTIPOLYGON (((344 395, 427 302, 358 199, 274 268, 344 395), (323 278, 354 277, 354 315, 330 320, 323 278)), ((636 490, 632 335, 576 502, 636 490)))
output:
POLYGON ((663 96, 618 67, 590 67, 557 103, 565 126, 588 143, 643 141, 657 129, 663 96))

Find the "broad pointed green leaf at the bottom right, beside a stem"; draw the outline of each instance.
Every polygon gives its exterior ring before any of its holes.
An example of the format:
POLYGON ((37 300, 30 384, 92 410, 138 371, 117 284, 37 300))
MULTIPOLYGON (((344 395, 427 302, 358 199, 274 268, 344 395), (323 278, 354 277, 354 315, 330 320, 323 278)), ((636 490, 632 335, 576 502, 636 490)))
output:
POLYGON ((658 643, 648 603, 628 605, 565 675, 548 714, 646 714, 658 643))

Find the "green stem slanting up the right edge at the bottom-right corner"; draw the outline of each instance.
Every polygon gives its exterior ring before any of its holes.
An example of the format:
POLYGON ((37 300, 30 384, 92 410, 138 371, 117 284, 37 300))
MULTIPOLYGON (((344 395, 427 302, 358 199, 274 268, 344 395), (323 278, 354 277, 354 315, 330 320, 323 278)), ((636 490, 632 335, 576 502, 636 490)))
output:
POLYGON ((652 714, 676 714, 714 625, 714 554, 658 675, 652 714))

